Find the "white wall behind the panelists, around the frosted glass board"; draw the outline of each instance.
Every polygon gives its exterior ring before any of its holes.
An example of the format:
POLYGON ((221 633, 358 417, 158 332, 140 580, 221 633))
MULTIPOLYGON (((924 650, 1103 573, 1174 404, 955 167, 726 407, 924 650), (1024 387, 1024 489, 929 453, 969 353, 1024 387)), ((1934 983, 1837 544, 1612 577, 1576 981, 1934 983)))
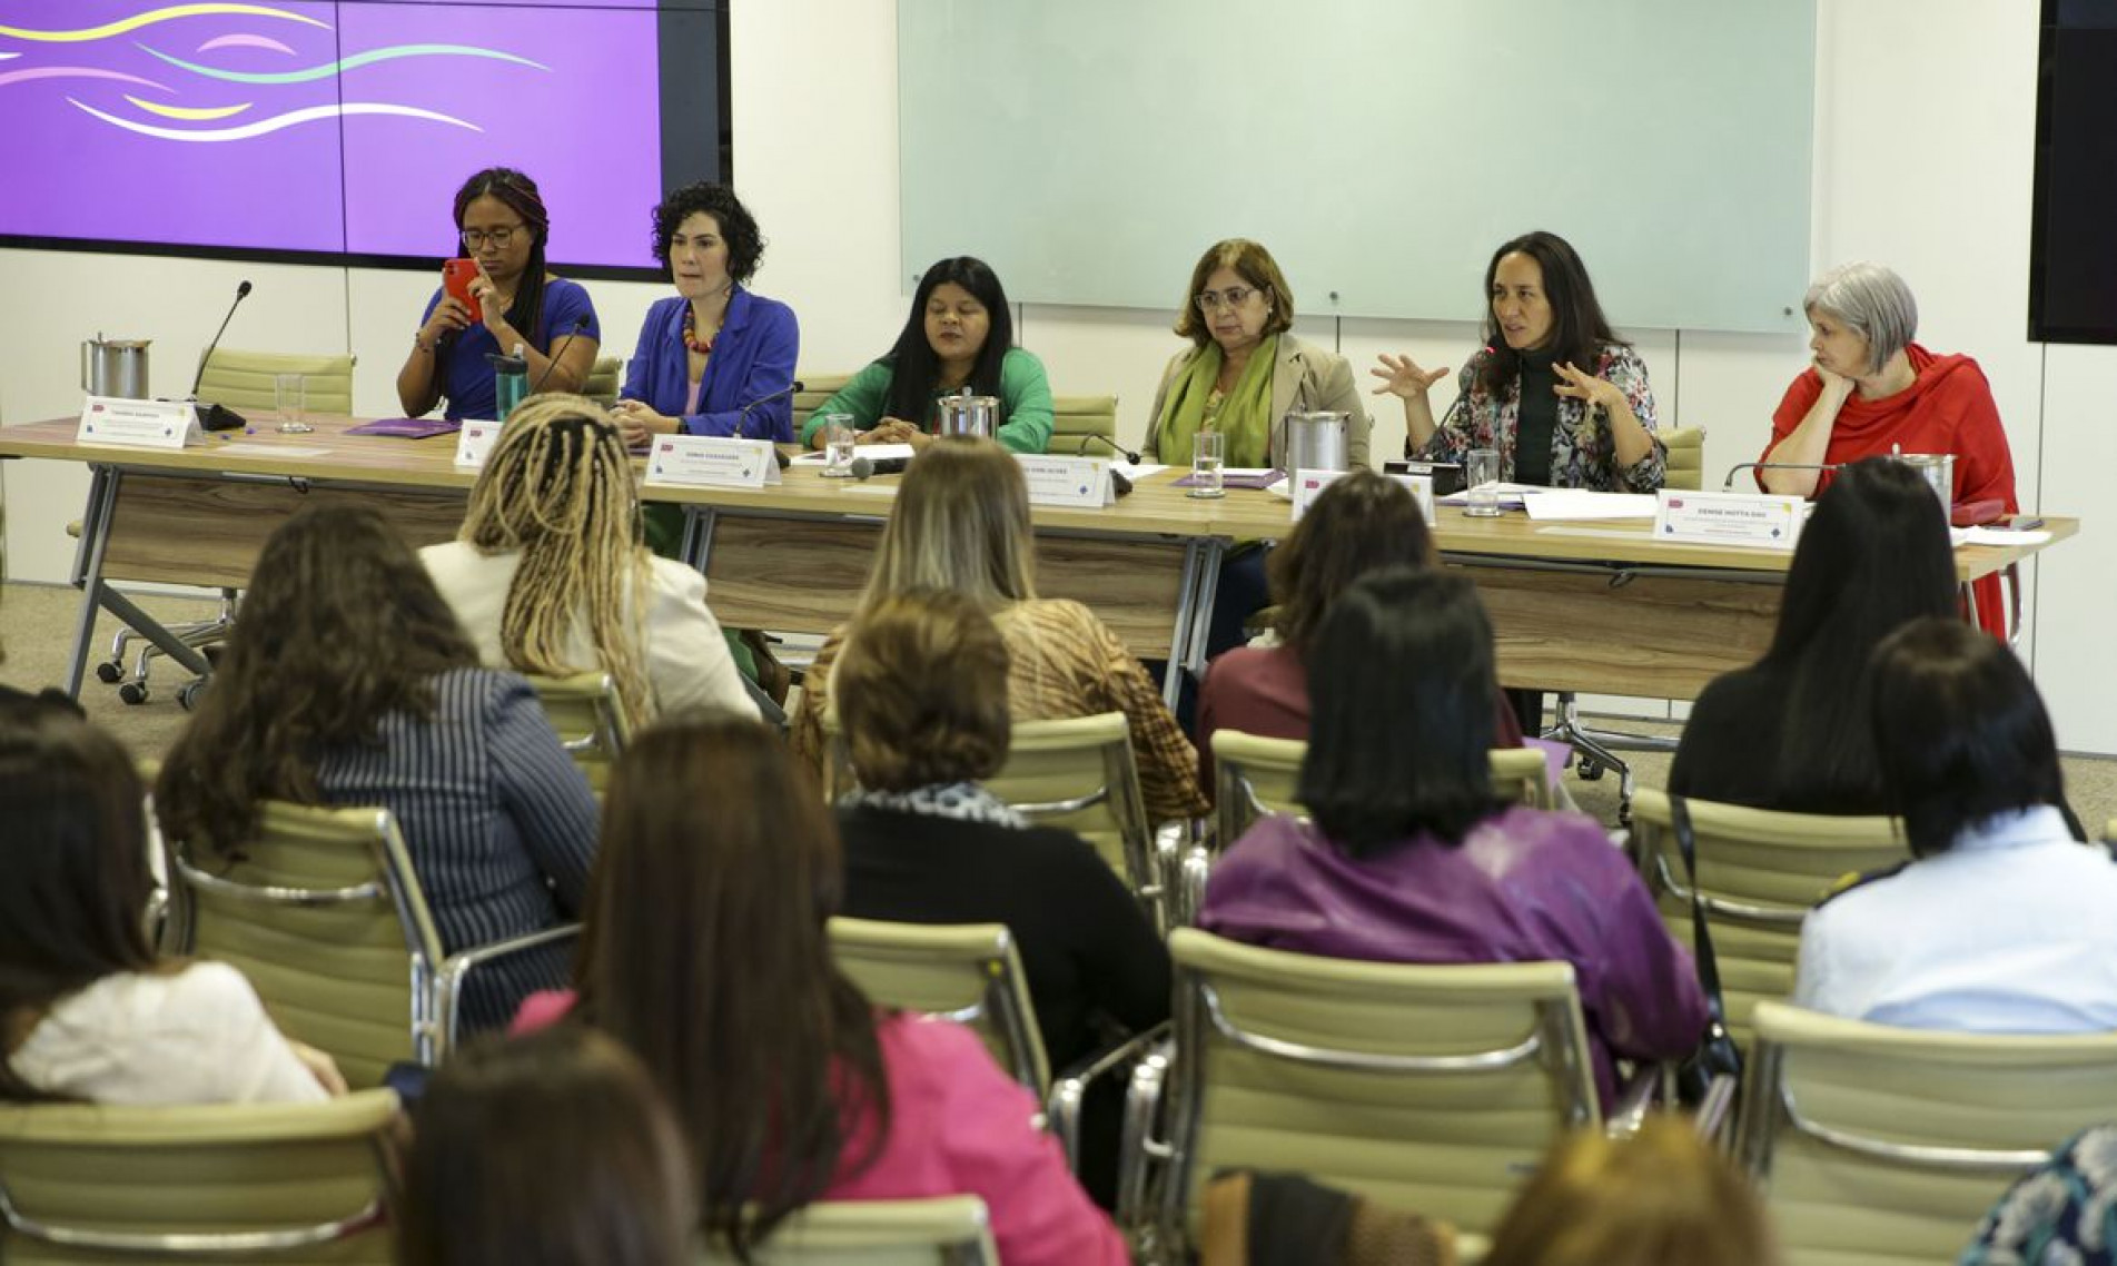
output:
MULTIPOLYGON (((849 370, 879 354, 904 320, 908 271, 898 258, 895 6, 876 0, 771 0, 732 6, 735 176, 771 246, 758 290, 802 322, 802 366, 849 370)), ((2098 476, 2117 468, 2117 430, 2100 417, 2117 394, 2117 349, 2028 343, 2026 273, 2034 133, 2037 6, 2020 0, 1819 0, 1814 263, 1876 258, 1920 301, 1920 341, 1984 364, 2013 442, 2026 508, 2087 519, 2079 540, 2039 567, 2045 586, 2030 637, 2039 680, 2068 749, 2117 752, 2117 686, 2098 631, 2117 618, 2100 576, 2117 544, 2098 523, 2098 476)), ((1315 97, 1293 93, 1296 106, 1315 97)), ((1740 144, 1742 119, 1727 119, 1740 144)), ((1554 142, 1556 144, 1556 142, 1554 142)), ((1603 142, 1594 142, 1603 144, 1603 142)), ((1442 140, 1421 140, 1446 188, 1442 140)), ((1653 161, 1611 148, 1609 161, 1653 161)), ((976 163, 967 163, 976 169, 976 163)), ((1526 174, 1524 174, 1526 176, 1526 174)), ((1006 191, 993 214, 1029 216, 1006 191)), ((436 216, 447 214, 436 207, 436 216)), ((1226 235, 1209 207, 1141 207, 1188 216, 1200 246, 1226 235)), ((1526 227, 1526 224, 1524 224, 1526 227)), ((1482 256, 1488 241, 1465 241, 1482 256)), ((1738 239, 1727 250, 1742 250, 1738 239)), ((1171 303, 1192 260, 1169 263, 1171 303)), ((1592 260, 1590 260, 1592 263, 1592 260)), ((246 347, 351 347, 362 362, 356 409, 394 413, 392 381, 430 282, 413 273, 292 269, 138 256, 0 252, 0 421, 78 409, 76 347, 97 328, 157 339, 155 387, 180 392, 237 277, 256 294, 229 341, 246 347)), ((1291 279, 1300 292, 1300 277, 1291 279)), ((612 343, 629 349, 654 286, 595 284, 612 343)), ((1787 296, 1797 303, 1797 294, 1787 296)), ((1476 345, 1463 324, 1302 322, 1338 341, 1357 373, 1380 349, 1459 366, 1476 345)), ((1613 313, 1624 322, 1624 313, 1613 313)), ((1173 311, 1027 307, 1023 341, 1061 392, 1116 392, 1120 432, 1137 442, 1156 375, 1177 341, 1173 311)), ((1664 421, 1706 426, 1713 478, 1763 449, 1770 411, 1802 366, 1787 337, 1632 330, 1653 370, 1664 421)), ((1401 445, 1404 421, 1376 411, 1376 453, 1401 445)), ((15 576, 55 580, 70 563, 61 527, 80 512, 76 470, 6 464, 8 561, 15 576)))

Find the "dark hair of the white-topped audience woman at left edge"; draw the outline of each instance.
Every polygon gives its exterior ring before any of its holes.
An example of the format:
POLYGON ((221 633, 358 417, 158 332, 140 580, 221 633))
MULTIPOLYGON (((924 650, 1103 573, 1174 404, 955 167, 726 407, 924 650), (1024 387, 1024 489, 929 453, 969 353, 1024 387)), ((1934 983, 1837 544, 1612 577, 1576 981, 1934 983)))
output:
MULTIPOLYGON (((0 1025, 119 972, 155 970, 140 775, 66 701, 0 699, 0 1025)), ((0 1044, 0 1099, 55 1099, 0 1044)))

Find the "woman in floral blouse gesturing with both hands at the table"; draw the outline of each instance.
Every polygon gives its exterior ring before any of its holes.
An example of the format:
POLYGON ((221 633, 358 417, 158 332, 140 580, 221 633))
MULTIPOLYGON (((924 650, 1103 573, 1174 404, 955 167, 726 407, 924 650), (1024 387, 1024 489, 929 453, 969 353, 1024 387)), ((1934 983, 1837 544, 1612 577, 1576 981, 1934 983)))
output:
POLYGON ((1376 394, 1404 400, 1406 455, 1459 462, 1499 449, 1509 483, 1647 493, 1666 449, 1653 434, 1647 364, 1611 332, 1588 267, 1554 233, 1526 233, 1484 271, 1486 345, 1456 377, 1461 394, 1433 421, 1427 392, 1446 368, 1382 356, 1376 394))

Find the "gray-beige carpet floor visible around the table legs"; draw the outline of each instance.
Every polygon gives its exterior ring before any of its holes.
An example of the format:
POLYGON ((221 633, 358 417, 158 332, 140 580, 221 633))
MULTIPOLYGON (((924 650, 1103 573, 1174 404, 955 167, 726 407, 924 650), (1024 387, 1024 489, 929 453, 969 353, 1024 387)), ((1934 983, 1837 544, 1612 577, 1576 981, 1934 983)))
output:
MULTIPOLYGON (((197 597, 142 597, 140 605, 161 620, 199 620, 214 614, 212 599, 197 597)), ((66 661, 74 641, 74 620, 80 614, 80 595, 66 586, 51 584, 0 584, 0 684, 36 690, 57 684, 66 673, 66 661)), ((104 656, 121 625, 108 614, 95 625, 95 656, 104 656)), ((80 703, 95 724, 116 735, 129 752, 142 758, 159 758, 184 728, 188 716, 176 699, 176 688, 186 673, 165 658, 155 658, 148 675, 148 697, 140 705, 119 701, 116 686, 95 680, 91 671, 80 688, 80 703)), ((131 671, 127 654, 125 671, 131 671)), ((1675 735, 1670 724, 1611 720, 1607 728, 1675 735)), ((1639 785, 1660 788, 1668 779, 1668 756, 1660 752, 1624 754, 1632 762, 1639 785)), ((2100 832, 2102 824, 2117 817, 2117 758, 2068 756, 2066 796, 2089 832, 2100 832)), ((1607 773, 1596 781, 1567 779, 1567 790, 1581 811, 1592 813, 1607 826, 1617 826, 1617 775, 1607 773)))

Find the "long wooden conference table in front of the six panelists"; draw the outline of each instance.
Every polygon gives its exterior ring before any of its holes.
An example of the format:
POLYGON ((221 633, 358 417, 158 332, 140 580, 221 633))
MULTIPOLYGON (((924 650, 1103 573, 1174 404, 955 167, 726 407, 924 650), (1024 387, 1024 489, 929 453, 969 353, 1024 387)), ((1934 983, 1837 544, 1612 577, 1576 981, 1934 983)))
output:
MULTIPOLYGON (((70 692, 80 690, 97 610, 193 671, 205 669, 110 582, 243 586, 273 527, 318 500, 370 504, 415 546, 455 536, 474 474, 455 470, 451 438, 347 436, 354 419, 311 421, 313 434, 260 428, 184 451, 76 445, 74 419, 0 428, 0 457, 83 462, 93 472, 72 576, 83 610, 70 692)), ((1283 498, 1230 489, 1222 500, 1194 500, 1171 487, 1179 474, 1143 478, 1101 510, 1031 512, 1039 593, 1088 603, 1135 654, 1166 658, 1171 701, 1179 667, 1205 658, 1226 550, 1289 529, 1283 498)), ((796 466, 768 489, 644 495, 690 512, 686 555, 707 574, 707 601, 724 625, 828 633, 860 597, 895 483, 821 478, 796 466)), ((1442 557, 1469 569, 1492 614, 1503 684, 1694 699, 1715 675, 1763 654, 1791 557, 1655 542, 1647 527, 1440 510, 1442 557)), ((2079 523, 2047 519, 2045 529, 2045 544, 2056 544, 2079 523)), ((1956 576, 1988 576, 2039 548, 1962 546, 1956 576)))

